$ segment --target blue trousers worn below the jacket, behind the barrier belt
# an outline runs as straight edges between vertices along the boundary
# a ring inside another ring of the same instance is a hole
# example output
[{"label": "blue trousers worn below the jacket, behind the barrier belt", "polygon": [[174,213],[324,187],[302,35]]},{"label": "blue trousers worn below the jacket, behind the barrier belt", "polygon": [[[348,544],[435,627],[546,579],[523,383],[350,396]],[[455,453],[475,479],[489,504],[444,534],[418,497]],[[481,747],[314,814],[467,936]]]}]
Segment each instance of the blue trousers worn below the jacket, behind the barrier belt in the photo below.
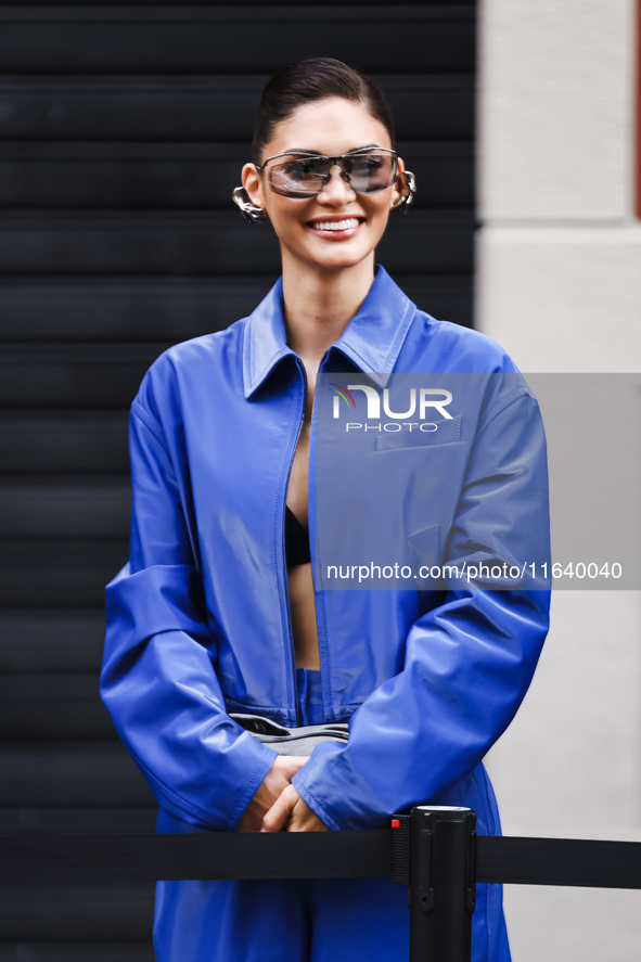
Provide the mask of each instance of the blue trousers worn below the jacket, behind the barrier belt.
[{"label": "blue trousers worn below the jacket, behind the barrier belt", "polygon": [[[304,724],[320,672],[298,669]],[[449,803],[454,804],[454,803]],[[206,830],[158,812],[158,832]],[[473,962],[510,962],[501,887],[477,886]],[[387,878],[158,882],[156,962],[408,962],[407,888]]]}]

